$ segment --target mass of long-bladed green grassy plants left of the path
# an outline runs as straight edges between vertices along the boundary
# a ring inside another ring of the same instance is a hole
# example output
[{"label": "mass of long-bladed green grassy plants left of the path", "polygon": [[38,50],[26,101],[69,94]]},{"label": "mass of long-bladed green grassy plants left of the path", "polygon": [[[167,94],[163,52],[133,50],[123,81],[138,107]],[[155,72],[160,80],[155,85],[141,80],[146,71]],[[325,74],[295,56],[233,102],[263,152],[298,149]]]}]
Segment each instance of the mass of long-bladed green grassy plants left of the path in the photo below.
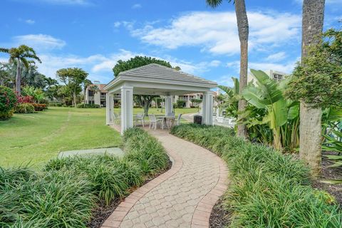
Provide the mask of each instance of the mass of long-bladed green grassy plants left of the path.
[{"label": "mass of long-bladed green grassy plants left of the path", "polygon": [[160,142],[140,129],[124,136],[125,155],[53,159],[41,172],[0,167],[0,227],[87,227],[100,204],[117,202],[167,169]]}]

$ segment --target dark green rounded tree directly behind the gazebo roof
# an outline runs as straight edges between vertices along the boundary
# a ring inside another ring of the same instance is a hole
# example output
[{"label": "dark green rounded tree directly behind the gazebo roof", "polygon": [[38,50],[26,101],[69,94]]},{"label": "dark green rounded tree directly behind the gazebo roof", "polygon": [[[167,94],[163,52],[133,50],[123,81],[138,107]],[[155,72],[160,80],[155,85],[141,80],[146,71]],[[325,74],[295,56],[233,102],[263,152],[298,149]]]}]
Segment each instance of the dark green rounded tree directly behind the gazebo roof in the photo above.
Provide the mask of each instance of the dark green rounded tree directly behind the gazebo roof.
[{"label": "dark green rounded tree directly behind the gazebo roof", "polygon": [[[135,56],[134,58],[130,58],[128,61],[119,60],[118,63],[115,64],[113,68],[114,77],[117,77],[120,72],[128,71],[133,68],[137,68],[140,66],[145,66],[150,63],[157,63],[162,66],[172,68],[171,64],[167,61],[163,61],[156,58],[151,58],[147,56]],[[148,110],[150,108],[150,104],[152,103],[153,98],[159,97],[157,95],[134,95],[134,100],[138,103],[143,109],[145,115],[148,115]]]}]

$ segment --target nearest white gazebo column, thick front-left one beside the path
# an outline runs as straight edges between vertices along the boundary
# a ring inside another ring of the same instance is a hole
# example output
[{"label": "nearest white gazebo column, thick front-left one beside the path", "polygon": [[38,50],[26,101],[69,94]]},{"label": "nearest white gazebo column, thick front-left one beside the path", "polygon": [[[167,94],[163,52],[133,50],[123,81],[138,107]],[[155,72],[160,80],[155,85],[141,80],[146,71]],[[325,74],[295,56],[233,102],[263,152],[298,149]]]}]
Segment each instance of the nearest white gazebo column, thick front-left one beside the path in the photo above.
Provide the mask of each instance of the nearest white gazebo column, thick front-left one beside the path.
[{"label": "nearest white gazebo column, thick front-left one beside the path", "polygon": [[133,128],[133,86],[121,87],[121,135]]}]

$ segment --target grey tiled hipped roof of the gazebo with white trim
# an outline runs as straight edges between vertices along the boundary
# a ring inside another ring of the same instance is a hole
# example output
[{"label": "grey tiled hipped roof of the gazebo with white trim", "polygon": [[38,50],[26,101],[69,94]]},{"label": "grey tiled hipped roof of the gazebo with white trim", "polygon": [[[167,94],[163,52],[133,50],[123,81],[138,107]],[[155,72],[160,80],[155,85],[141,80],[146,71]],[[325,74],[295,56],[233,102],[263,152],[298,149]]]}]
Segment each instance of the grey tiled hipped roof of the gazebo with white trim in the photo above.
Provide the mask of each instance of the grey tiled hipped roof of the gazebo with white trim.
[{"label": "grey tiled hipped roof of the gazebo with white trim", "polygon": [[205,92],[217,87],[217,83],[151,63],[119,73],[105,90],[120,93],[121,86],[133,86],[135,94],[167,95]]}]

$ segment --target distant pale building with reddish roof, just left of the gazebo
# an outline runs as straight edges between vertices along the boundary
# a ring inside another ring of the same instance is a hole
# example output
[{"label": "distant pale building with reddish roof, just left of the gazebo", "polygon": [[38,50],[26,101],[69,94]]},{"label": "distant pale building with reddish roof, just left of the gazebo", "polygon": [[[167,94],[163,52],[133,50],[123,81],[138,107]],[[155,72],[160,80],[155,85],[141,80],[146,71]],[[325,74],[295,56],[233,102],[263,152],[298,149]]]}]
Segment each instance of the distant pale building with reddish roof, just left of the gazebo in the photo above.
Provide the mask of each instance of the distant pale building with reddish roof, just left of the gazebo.
[{"label": "distant pale building with reddish roof, just left of the gazebo", "polygon": [[[86,88],[86,104],[95,104],[105,107],[105,95],[108,93],[104,89],[106,84],[100,84],[99,81],[94,81],[94,83]],[[120,95],[115,95],[114,103],[118,103],[120,100]]]}]

